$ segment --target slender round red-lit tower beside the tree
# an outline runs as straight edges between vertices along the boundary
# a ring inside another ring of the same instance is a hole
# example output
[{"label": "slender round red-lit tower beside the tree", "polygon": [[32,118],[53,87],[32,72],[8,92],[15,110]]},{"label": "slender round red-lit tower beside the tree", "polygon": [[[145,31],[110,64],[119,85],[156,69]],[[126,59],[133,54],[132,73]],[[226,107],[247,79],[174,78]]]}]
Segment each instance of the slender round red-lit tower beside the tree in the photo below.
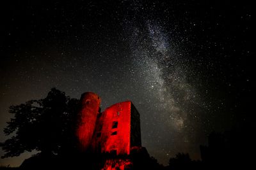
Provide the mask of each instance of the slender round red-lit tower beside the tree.
[{"label": "slender round red-lit tower beside the tree", "polygon": [[95,123],[100,107],[100,97],[93,92],[85,92],[81,95],[81,110],[78,115],[78,127],[76,131],[81,150],[85,151],[90,146]]}]

